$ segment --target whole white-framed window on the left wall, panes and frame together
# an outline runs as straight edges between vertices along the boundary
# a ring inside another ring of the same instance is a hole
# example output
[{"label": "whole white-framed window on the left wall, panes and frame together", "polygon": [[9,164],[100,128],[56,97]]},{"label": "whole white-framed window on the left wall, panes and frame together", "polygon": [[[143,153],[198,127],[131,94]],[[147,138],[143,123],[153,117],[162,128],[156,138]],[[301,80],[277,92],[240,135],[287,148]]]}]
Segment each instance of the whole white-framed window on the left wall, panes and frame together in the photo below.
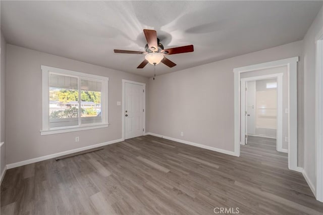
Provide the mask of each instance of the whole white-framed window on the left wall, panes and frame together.
[{"label": "whole white-framed window on the left wall, panes and frame together", "polygon": [[41,66],[41,135],[103,128],[109,78]]}]

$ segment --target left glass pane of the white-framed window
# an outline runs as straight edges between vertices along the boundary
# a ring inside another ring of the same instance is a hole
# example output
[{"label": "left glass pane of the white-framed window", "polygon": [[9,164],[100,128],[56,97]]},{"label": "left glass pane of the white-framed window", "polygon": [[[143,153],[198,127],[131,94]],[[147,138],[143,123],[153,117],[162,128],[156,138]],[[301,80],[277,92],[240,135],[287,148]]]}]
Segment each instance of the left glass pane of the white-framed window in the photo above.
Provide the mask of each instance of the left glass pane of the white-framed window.
[{"label": "left glass pane of the white-framed window", "polygon": [[50,74],[49,76],[49,128],[77,126],[78,79]]}]

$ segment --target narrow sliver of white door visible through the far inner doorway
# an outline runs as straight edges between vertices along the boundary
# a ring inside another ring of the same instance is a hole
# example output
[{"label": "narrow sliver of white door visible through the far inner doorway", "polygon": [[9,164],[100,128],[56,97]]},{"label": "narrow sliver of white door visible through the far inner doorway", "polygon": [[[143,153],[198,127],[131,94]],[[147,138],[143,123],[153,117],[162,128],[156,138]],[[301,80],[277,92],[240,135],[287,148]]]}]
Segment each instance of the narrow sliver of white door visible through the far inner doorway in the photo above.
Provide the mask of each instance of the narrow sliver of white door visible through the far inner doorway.
[{"label": "narrow sliver of white door visible through the far inner doorway", "polygon": [[256,133],[256,121],[255,121],[255,105],[256,105],[256,81],[246,82],[246,110],[247,110],[247,124],[246,134]]}]

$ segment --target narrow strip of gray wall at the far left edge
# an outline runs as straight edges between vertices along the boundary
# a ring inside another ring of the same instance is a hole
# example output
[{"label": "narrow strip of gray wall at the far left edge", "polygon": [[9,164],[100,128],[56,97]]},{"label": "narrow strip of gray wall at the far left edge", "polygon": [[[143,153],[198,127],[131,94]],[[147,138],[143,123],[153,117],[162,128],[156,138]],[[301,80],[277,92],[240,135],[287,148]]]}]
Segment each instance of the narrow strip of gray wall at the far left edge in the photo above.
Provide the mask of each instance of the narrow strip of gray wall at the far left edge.
[{"label": "narrow strip of gray wall at the far left edge", "polygon": [[0,174],[6,166],[6,40],[1,32],[1,72],[0,72],[0,142],[1,147]]}]

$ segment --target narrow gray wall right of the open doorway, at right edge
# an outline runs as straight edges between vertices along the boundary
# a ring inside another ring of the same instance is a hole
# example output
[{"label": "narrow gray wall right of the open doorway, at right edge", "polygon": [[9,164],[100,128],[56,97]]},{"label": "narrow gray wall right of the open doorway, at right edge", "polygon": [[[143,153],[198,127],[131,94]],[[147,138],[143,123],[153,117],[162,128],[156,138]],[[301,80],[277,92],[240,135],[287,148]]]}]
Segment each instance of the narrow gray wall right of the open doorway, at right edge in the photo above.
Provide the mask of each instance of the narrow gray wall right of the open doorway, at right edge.
[{"label": "narrow gray wall right of the open doorway, at right edge", "polygon": [[315,37],[323,28],[322,9],[304,37],[304,171],[316,188],[315,178]]}]

